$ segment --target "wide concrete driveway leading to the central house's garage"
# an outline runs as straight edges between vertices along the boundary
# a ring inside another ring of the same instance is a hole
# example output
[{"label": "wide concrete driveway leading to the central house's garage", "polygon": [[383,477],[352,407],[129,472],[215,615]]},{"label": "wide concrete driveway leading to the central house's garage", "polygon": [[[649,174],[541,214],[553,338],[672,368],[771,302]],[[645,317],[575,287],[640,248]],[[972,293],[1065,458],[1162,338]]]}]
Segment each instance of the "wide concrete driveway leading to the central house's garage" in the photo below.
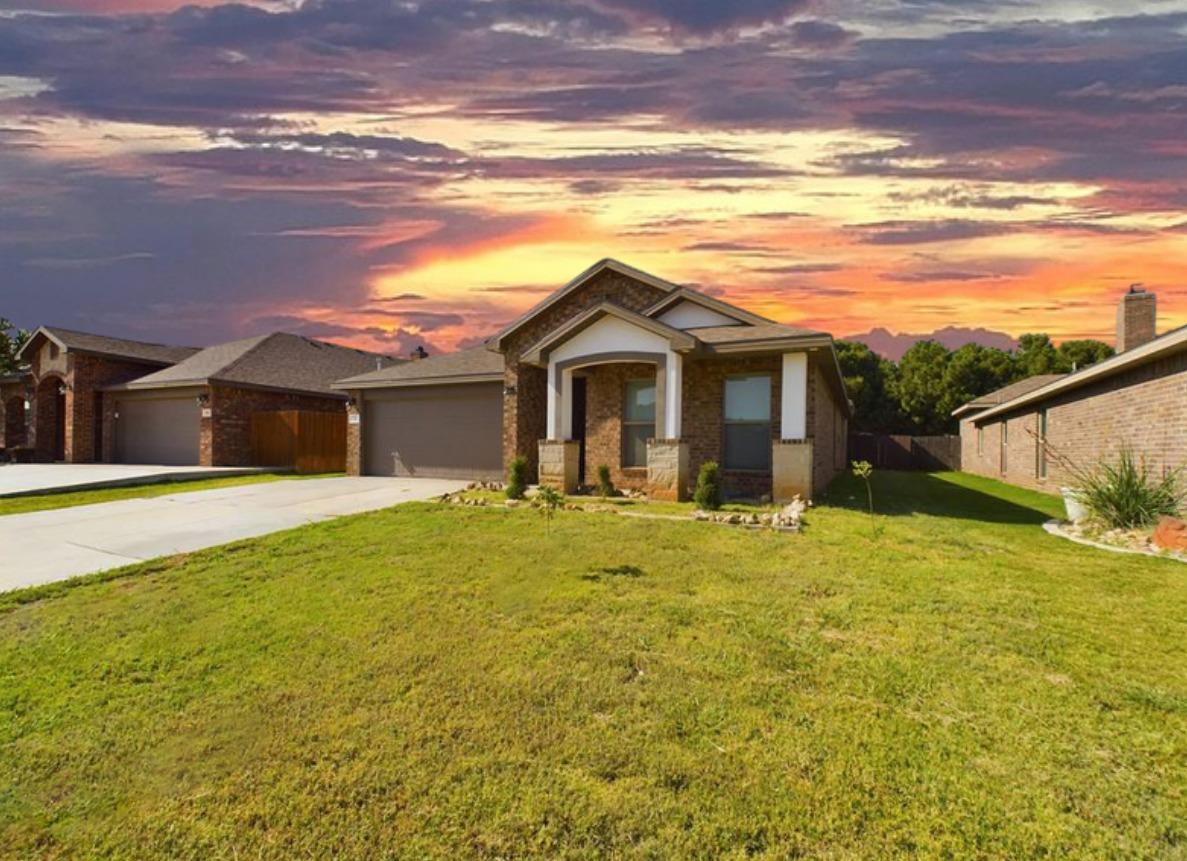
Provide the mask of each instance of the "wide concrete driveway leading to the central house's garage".
[{"label": "wide concrete driveway leading to the central house's garage", "polygon": [[464,488],[437,479],[306,479],[0,517],[0,591],[212,547]]}]

